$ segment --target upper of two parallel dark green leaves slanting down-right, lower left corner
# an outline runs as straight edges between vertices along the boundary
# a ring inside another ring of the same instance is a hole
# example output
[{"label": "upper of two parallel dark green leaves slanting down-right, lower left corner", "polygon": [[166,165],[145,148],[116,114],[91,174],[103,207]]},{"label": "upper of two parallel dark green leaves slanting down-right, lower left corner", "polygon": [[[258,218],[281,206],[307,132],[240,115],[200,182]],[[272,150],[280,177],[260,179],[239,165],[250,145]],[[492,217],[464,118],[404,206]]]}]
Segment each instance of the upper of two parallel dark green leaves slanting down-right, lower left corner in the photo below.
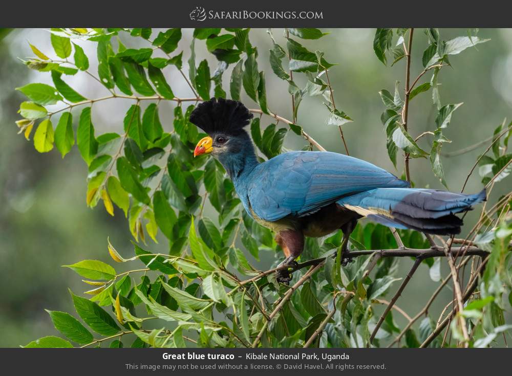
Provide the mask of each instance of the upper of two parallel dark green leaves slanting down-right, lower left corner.
[{"label": "upper of two parallel dark green leaves slanting down-right, lower left corner", "polygon": [[119,333],[119,326],[103,308],[95,302],[76,296],[71,290],[69,292],[73,298],[76,312],[91,329],[103,336],[113,336]]}]

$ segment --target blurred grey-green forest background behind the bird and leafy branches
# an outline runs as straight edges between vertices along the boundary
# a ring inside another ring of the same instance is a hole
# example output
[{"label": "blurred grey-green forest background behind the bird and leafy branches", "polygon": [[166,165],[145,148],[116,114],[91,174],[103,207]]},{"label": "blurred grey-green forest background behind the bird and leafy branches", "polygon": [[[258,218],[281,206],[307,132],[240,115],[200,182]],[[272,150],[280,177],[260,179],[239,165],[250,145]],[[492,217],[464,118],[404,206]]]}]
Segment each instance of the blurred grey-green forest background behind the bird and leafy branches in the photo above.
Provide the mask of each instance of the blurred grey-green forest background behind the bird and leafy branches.
[{"label": "blurred grey-green forest background behind the bird and leafy branches", "polygon": [[[380,122],[384,108],[378,92],[381,89],[393,92],[395,80],[403,82],[404,60],[390,68],[376,58],[372,47],[374,29],[325,31],[330,31],[330,34],[322,39],[302,42],[312,51],[325,51],[326,60],[337,63],[330,70],[329,78],[334,88],[337,108],[343,109],[354,119],[353,123],[343,128],[350,154],[401,175],[402,158],[398,157],[396,170],[387,155],[386,136]],[[184,51],[184,62],[189,56],[192,32],[191,29],[183,30],[183,38],[176,51]],[[440,33],[444,40],[467,35],[465,29],[441,29]],[[273,34],[284,46],[283,30],[275,29]],[[153,35],[156,35],[156,31]],[[444,152],[487,139],[505,117],[512,118],[512,29],[482,29],[478,36],[491,40],[460,55],[451,56],[452,68],[443,68],[439,74],[442,104],[464,102],[453,115],[449,128],[444,131],[445,136],[453,140],[452,144],[444,145]],[[252,45],[258,47],[259,69],[266,72],[269,108],[291,119],[291,99],[287,85],[273,75],[268,62],[268,50],[272,44],[266,30],[253,29],[249,37]],[[76,147],[62,160],[56,149],[40,154],[32,142],[27,142],[23,135],[17,135],[18,128],[14,122],[19,116],[16,112],[25,97],[14,88],[29,82],[51,84],[49,73],[29,70],[18,58],[33,55],[27,41],[45,54],[54,56],[49,32],[43,29],[15,29],[8,33],[0,32],[0,38],[0,322],[3,327],[0,347],[14,347],[42,336],[55,335],[56,331],[44,308],[74,311],[67,289],[70,287],[79,293],[86,290],[86,285],[73,271],[61,268],[61,265],[82,259],[111,262],[106,252],[108,236],[123,255],[130,255],[133,248],[130,246],[128,224],[121,211],[116,211],[116,216],[111,217],[101,205],[94,210],[86,206],[87,166]],[[121,33],[120,38],[127,47],[147,47],[137,45],[139,40],[126,33]],[[96,43],[78,44],[89,56],[90,71],[97,72]],[[412,51],[412,79],[423,69],[421,56],[426,46],[426,36],[419,29],[416,30]],[[207,56],[205,50],[204,41],[197,41],[196,61],[208,58],[213,72],[217,62],[210,60],[211,56]],[[232,66],[224,74],[224,90],[228,93],[231,69]],[[184,70],[187,70],[186,63]],[[166,74],[169,74],[168,82],[177,96],[190,96],[190,90],[179,72],[169,68]],[[424,79],[429,80],[430,76],[427,74]],[[101,84],[83,73],[67,76],[66,80],[88,98],[108,95]],[[300,86],[305,83],[301,79],[296,81]],[[400,89],[403,90],[403,85],[400,85]],[[249,107],[257,107],[247,97],[243,99]],[[124,100],[94,104],[93,123],[96,134],[119,131],[130,104]],[[167,107],[160,112],[166,130],[172,127],[173,105],[165,103]],[[412,136],[434,130],[436,114],[431,92],[419,95],[409,109]],[[326,149],[344,152],[337,127],[326,125],[327,115],[320,97],[305,98],[298,112],[298,124]],[[270,119],[265,117],[262,121],[263,124],[270,123]],[[285,141],[286,148],[297,149],[304,145],[302,138],[289,132]],[[430,150],[429,145],[426,140],[420,142],[425,150]],[[451,190],[460,190],[465,176],[487,145],[459,157],[442,159],[446,182]],[[442,188],[431,171],[430,161],[426,159],[412,160],[411,176],[416,187]],[[492,202],[505,192],[509,181],[510,178],[495,187],[490,197]],[[475,172],[465,191],[476,192],[480,189],[482,184]],[[466,232],[467,227],[475,223],[477,214],[474,212],[466,216]],[[166,242],[161,241],[159,245],[150,242],[146,248],[165,251]],[[274,260],[274,254],[270,252],[262,252],[260,255],[260,263],[249,256],[255,266],[260,268],[268,267]],[[402,259],[400,267],[403,273],[399,275],[406,273],[410,264],[409,259]],[[441,265],[444,276],[447,268],[443,262]],[[438,285],[430,279],[426,266],[422,264],[420,268],[398,301],[398,305],[411,316],[424,305]],[[432,308],[435,318],[451,298],[452,292],[449,289],[445,289],[437,298]],[[395,315],[395,320],[400,322],[403,318]],[[505,320],[510,322],[510,317]]]}]

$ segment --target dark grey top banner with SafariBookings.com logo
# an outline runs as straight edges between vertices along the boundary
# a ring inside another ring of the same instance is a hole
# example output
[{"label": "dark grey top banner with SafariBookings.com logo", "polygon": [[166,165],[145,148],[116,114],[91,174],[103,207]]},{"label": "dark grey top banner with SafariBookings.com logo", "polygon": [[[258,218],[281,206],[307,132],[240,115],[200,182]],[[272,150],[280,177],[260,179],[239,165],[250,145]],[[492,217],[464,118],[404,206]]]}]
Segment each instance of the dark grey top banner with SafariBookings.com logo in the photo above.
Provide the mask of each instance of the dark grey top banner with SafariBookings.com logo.
[{"label": "dark grey top banner with SafariBookings.com logo", "polygon": [[0,27],[511,27],[510,2],[4,2]]}]

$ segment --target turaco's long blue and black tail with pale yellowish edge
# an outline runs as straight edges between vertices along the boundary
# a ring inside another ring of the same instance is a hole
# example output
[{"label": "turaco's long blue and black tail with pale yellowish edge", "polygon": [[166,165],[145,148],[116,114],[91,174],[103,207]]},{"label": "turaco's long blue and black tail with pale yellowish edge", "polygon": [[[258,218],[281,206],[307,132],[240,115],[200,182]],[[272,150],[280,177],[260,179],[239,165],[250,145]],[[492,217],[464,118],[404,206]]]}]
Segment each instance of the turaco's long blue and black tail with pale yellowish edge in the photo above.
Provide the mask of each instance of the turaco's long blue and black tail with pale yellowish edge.
[{"label": "turaco's long blue and black tail with pale yellowish edge", "polygon": [[452,235],[458,234],[462,226],[462,219],[454,213],[471,210],[472,205],[485,200],[485,189],[461,194],[434,189],[376,188],[343,197],[337,204],[388,227]]}]

